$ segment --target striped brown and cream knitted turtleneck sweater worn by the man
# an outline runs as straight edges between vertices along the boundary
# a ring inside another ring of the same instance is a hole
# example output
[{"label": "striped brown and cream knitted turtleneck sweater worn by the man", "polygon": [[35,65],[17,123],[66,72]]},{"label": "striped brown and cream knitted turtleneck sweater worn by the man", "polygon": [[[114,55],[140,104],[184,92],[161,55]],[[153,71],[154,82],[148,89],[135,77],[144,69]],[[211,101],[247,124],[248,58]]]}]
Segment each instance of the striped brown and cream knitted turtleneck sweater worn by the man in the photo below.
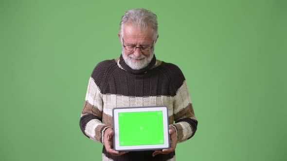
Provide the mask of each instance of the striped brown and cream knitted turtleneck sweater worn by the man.
[{"label": "striped brown and cream knitted turtleneck sweater worn by the man", "polygon": [[[159,106],[168,108],[169,125],[176,129],[178,143],[191,138],[197,119],[179,67],[156,60],[131,69],[122,55],[96,65],[90,76],[80,128],[90,139],[103,143],[104,131],[112,127],[112,109],[117,107]],[[135,120],[136,121],[136,120]],[[103,161],[175,161],[175,152],[152,157],[153,151],[131,151],[112,156],[105,147]]]}]

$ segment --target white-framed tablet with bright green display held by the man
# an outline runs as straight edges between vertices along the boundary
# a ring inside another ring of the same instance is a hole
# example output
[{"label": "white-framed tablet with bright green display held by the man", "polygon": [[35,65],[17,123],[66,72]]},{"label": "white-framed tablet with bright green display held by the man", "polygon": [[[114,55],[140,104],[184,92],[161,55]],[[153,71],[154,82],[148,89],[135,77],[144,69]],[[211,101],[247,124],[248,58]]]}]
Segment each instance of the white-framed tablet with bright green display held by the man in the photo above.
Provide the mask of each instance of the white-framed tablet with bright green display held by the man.
[{"label": "white-framed tablet with bright green display held by the man", "polygon": [[116,151],[156,150],[170,147],[165,106],[114,108]]}]

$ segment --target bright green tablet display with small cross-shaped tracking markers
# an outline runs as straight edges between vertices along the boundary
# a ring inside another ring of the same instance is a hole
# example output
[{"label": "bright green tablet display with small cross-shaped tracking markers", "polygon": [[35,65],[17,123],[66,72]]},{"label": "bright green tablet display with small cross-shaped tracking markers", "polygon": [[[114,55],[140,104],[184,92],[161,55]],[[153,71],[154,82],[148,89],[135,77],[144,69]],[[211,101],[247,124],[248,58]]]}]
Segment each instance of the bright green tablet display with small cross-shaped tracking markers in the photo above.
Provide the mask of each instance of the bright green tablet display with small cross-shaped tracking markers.
[{"label": "bright green tablet display with small cross-shaped tracking markers", "polygon": [[120,146],[163,144],[162,111],[119,113]]}]

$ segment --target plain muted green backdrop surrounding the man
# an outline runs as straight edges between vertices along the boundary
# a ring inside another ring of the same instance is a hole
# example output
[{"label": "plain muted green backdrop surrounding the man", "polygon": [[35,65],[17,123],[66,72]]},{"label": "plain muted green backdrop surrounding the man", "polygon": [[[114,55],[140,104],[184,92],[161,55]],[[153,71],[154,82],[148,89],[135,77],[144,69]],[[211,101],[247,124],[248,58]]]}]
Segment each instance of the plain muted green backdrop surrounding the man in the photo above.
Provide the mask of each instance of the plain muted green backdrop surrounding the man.
[{"label": "plain muted green backdrop surrounding the man", "polygon": [[177,160],[287,160],[286,0],[0,0],[0,160],[101,160],[79,128],[87,84],[139,7],[158,16],[156,56],[181,68],[199,121]]}]

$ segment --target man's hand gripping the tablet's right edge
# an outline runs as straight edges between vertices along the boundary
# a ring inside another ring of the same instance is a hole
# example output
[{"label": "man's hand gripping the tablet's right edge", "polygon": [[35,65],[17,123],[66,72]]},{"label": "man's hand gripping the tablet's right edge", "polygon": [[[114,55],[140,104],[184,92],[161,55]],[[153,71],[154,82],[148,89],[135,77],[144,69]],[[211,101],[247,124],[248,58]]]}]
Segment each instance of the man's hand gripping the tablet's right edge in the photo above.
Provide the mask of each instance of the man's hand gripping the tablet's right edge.
[{"label": "man's hand gripping the tablet's right edge", "polygon": [[169,154],[173,151],[176,150],[176,146],[178,143],[178,138],[177,138],[177,134],[176,131],[173,127],[169,127],[168,130],[169,136],[170,136],[170,148],[168,149],[162,149],[162,150],[155,150],[155,152],[152,153],[152,156],[156,156],[158,154]]}]

